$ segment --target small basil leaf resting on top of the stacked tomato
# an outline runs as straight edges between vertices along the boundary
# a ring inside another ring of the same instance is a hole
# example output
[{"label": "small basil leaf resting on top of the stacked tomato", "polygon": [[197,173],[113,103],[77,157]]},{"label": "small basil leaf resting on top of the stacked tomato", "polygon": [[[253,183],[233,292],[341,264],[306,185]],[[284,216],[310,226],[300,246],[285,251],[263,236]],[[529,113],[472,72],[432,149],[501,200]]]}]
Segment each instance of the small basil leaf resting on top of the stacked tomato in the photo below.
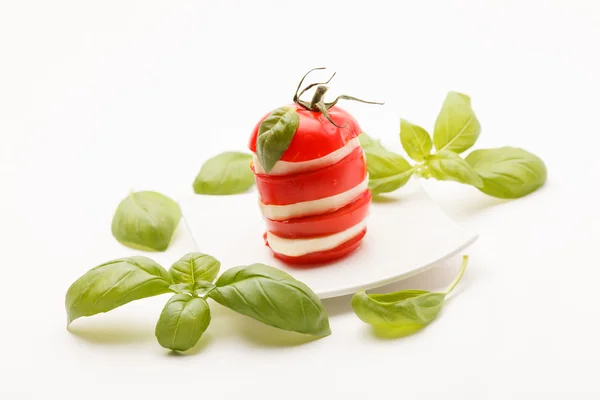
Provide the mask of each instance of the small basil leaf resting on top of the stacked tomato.
[{"label": "small basil leaf resting on top of the stacked tomato", "polygon": [[300,124],[295,109],[280,107],[269,114],[258,127],[256,156],[266,172],[273,169],[288,149]]}]

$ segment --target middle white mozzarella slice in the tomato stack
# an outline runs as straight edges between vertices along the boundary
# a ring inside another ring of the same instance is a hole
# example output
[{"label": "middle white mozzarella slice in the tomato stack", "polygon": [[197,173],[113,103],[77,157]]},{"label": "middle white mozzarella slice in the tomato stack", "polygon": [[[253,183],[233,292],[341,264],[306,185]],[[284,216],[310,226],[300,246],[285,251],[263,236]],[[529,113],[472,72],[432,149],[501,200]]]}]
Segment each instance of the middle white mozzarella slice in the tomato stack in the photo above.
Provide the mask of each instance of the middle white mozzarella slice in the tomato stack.
[{"label": "middle white mozzarella slice in the tomato stack", "polygon": [[294,217],[302,217],[305,215],[324,214],[329,211],[337,210],[349,204],[356,199],[361,193],[367,190],[369,185],[369,176],[352,189],[336,194],[335,196],[325,197],[318,200],[302,201],[300,203],[288,204],[284,206],[266,205],[259,200],[258,205],[262,214],[274,221],[283,221]]}]

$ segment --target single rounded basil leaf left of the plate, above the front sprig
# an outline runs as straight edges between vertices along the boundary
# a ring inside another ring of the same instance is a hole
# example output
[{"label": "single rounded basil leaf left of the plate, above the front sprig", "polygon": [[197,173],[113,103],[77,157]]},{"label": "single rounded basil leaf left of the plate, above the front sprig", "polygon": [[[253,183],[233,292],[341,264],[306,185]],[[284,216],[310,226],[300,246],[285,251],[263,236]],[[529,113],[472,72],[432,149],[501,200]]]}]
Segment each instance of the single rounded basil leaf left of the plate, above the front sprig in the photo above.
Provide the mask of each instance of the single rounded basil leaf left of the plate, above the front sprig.
[{"label": "single rounded basil leaf left of the plate, above the front sprig", "polygon": [[164,251],[181,219],[179,205],[157,192],[131,192],[112,220],[121,244],[144,251]]}]

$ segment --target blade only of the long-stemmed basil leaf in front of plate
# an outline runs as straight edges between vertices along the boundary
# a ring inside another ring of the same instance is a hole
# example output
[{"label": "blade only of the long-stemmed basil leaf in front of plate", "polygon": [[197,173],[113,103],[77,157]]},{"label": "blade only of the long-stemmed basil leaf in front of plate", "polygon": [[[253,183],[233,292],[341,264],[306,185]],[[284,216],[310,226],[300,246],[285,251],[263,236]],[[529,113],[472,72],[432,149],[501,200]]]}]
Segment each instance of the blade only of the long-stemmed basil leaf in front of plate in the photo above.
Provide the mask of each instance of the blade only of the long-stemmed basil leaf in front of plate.
[{"label": "blade only of the long-stemmed basil leaf in front of plate", "polygon": [[364,322],[385,327],[403,325],[427,325],[433,321],[444,305],[444,293],[397,292],[392,295],[404,297],[397,301],[381,301],[364,290],[352,297],[352,309]]}]

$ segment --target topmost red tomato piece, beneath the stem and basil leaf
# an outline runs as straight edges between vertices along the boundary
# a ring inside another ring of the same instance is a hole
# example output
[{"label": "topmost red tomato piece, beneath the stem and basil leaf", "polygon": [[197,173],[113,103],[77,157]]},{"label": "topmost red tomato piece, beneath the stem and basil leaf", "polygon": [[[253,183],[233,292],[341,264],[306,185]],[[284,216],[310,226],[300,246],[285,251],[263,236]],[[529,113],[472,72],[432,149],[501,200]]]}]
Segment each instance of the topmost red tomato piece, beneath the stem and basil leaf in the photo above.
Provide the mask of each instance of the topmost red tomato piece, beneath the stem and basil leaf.
[{"label": "topmost red tomato piece, beneath the stem and basil leaf", "polygon": [[[300,124],[288,149],[281,157],[282,161],[299,162],[321,158],[337,149],[362,133],[358,122],[347,111],[338,106],[329,109],[329,116],[339,126],[338,128],[325,118],[319,111],[309,111],[297,104],[289,105],[300,117]],[[248,147],[256,153],[256,137],[266,114],[254,127]]]}]

